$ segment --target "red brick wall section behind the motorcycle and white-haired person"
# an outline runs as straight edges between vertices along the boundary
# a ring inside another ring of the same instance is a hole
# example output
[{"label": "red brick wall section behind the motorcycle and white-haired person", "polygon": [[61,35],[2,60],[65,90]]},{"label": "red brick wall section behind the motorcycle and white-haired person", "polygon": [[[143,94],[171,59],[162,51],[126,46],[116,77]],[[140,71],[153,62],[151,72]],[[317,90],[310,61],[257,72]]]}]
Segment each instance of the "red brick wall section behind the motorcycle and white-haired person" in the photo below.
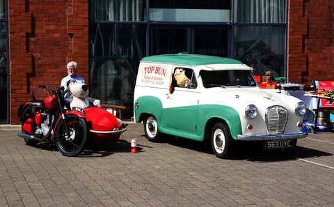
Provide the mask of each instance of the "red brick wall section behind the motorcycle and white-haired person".
[{"label": "red brick wall section behind the motorcycle and white-haired person", "polygon": [[19,105],[47,96],[39,84],[60,86],[68,61],[77,61],[88,83],[88,0],[10,0],[8,6],[10,123],[18,124]]}]

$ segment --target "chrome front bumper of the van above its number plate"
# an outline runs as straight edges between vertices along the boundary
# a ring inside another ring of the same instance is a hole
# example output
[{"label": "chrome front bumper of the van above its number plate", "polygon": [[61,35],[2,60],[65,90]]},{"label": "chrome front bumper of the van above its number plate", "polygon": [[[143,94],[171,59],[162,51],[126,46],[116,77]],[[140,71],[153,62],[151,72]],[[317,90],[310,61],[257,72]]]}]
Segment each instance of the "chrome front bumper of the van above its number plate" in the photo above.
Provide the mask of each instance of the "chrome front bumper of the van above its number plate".
[{"label": "chrome front bumper of the van above its number plate", "polygon": [[274,139],[296,139],[305,137],[308,137],[308,132],[300,132],[294,134],[279,134],[279,135],[237,135],[237,140],[259,141],[259,140],[274,140]]}]

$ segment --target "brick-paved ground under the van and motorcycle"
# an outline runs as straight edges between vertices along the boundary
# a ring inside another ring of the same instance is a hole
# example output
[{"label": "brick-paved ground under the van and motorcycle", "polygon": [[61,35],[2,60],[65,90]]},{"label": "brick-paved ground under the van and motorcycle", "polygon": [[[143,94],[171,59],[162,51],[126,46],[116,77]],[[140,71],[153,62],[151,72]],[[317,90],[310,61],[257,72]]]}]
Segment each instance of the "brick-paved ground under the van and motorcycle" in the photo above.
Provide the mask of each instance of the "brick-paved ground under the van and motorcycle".
[{"label": "brick-paved ground under the van and motorcycle", "polygon": [[299,139],[290,154],[244,146],[222,160],[194,141],[149,142],[136,123],[76,158],[26,146],[19,131],[0,125],[0,206],[334,206],[331,132]]}]

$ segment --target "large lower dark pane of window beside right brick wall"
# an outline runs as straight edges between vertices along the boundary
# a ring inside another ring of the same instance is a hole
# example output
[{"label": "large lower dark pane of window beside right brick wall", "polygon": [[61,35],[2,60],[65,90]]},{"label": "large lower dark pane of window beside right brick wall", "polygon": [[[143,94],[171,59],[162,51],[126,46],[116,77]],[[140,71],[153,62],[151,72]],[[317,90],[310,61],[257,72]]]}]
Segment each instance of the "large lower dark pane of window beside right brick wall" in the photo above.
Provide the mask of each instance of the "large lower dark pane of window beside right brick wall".
[{"label": "large lower dark pane of window beside right brick wall", "polygon": [[285,26],[234,26],[234,59],[254,69],[285,77]]}]

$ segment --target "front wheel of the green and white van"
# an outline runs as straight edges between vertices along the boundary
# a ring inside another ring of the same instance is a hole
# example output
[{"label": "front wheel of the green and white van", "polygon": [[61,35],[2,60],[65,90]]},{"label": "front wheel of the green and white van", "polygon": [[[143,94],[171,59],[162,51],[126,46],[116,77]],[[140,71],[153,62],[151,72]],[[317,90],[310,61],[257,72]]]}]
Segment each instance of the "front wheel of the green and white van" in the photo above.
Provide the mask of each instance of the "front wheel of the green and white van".
[{"label": "front wheel of the green and white van", "polygon": [[224,123],[216,123],[212,128],[211,146],[217,158],[227,158],[232,151],[233,138],[228,126]]}]

